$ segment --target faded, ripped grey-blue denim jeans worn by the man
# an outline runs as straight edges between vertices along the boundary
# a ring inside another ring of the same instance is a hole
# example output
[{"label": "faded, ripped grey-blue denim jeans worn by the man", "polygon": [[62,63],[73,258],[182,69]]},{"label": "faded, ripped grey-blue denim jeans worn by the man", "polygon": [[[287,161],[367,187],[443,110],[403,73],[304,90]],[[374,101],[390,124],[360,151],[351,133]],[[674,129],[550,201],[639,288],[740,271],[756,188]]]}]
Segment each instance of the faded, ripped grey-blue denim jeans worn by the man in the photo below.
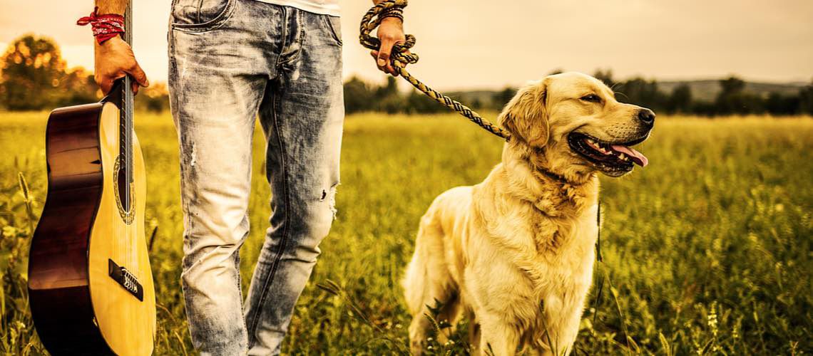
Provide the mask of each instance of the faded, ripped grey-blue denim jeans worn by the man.
[{"label": "faded, ripped grey-blue denim jeans worn by the man", "polygon": [[[180,140],[181,282],[202,354],[279,354],[334,217],[344,121],[339,19],[253,0],[174,0],[169,89]],[[243,307],[251,139],[270,228]]]}]

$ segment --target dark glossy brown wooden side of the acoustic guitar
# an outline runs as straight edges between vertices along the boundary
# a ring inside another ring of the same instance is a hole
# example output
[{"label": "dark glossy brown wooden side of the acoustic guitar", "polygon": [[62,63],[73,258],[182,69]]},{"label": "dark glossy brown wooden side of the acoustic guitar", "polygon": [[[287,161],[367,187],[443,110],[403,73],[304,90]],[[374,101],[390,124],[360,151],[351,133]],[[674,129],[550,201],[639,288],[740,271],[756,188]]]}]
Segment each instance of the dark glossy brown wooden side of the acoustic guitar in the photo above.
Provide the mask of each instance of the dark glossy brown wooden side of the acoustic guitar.
[{"label": "dark glossy brown wooden side of the acoustic guitar", "polygon": [[48,196],[31,243],[28,294],[37,333],[54,354],[112,354],[93,319],[87,255],[102,197],[101,113],[100,103],[79,105],[48,120]]}]

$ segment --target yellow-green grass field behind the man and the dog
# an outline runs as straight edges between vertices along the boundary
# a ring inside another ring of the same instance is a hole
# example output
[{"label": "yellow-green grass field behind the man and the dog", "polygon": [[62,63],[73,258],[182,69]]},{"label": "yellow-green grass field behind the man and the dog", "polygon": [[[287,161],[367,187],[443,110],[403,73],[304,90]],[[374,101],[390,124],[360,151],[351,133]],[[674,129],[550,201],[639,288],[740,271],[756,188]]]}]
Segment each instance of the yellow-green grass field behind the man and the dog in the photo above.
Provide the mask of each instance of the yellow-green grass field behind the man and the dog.
[{"label": "yellow-green grass field behind the man and the dog", "polygon": [[[0,113],[3,354],[43,352],[28,313],[25,268],[46,196],[46,117]],[[176,134],[168,115],[137,115],[137,131],[149,172],[147,225],[158,228],[151,251],[155,354],[194,354],[179,285]],[[337,221],[296,308],[286,353],[406,352],[409,317],[398,281],[418,219],[442,191],[485,178],[502,148],[451,114],[352,116],[345,132]],[[269,214],[259,135],[254,146],[244,283]],[[577,353],[813,353],[811,148],[811,118],[659,119],[641,148],[650,166],[602,178],[603,262]],[[462,335],[452,340],[430,353],[465,353]]]}]

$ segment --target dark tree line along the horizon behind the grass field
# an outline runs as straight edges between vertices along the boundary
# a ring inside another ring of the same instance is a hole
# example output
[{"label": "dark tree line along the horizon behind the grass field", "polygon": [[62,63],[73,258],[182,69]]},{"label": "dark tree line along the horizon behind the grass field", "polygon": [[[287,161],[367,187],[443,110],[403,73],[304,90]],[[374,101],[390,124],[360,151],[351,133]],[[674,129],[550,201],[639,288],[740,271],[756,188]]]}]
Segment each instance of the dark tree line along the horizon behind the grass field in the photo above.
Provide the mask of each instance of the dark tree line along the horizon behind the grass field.
[{"label": "dark tree line along the horizon behind the grass field", "polygon": [[[554,71],[557,73],[559,71]],[[737,77],[719,81],[713,100],[695,97],[688,84],[666,92],[656,80],[633,78],[615,81],[611,71],[593,73],[615,91],[619,101],[633,103],[665,114],[702,116],[731,114],[813,115],[813,83],[795,94],[768,92],[756,94],[746,90],[746,82]],[[472,109],[500,110],[511,100],[515,88],[489,92],[449,92],[450,97]],[[345,108],[348,114],[375,111],[389,114],[429,114],[446,112],[424,93],[398,90],[397,79],[388,77],[385,84],[370,84],[353,77],[344,84]],[[0,109],[41,110],[98,101],[102,93],[93,74],[81,67],[68,67],[61,58],[59,46],[47,37],[25,35],[8,46],[0,58]],[[143,88],[136,97],[136,109],[160,112],[169,108],[165,84]]]}]

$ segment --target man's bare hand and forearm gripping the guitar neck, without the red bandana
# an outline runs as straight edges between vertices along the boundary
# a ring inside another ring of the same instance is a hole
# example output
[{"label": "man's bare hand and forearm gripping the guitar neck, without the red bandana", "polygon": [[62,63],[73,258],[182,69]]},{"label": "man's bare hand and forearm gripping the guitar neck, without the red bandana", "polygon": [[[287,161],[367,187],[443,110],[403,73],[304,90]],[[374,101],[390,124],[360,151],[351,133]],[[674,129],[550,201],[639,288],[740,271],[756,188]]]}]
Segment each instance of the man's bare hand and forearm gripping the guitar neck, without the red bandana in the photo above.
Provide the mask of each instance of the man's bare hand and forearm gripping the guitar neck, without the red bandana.
[{"label": "man's bare hand and forearm gripping the guitar neck, without the red bandana", "polygon": [[[98,6],[98,14],[118,14],[124,15],[127,9],[127,0],[95,0]],[[130,31],[125,28],[125,31]],[[93,41],[93,54],[95,55],[95,67],[93,68],[93,79],[102,88],[102,92],[107,94],[113,86],[113,81],[131,75],[135,79],[133,92],[138,92],[138,86],[147,87],[150,81],[147,75],[141,70],[141,66],[136,62],[133,49],[120,36],[115,36],[99,45]]]}]

